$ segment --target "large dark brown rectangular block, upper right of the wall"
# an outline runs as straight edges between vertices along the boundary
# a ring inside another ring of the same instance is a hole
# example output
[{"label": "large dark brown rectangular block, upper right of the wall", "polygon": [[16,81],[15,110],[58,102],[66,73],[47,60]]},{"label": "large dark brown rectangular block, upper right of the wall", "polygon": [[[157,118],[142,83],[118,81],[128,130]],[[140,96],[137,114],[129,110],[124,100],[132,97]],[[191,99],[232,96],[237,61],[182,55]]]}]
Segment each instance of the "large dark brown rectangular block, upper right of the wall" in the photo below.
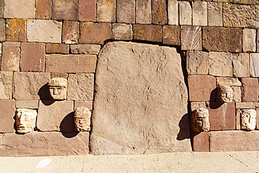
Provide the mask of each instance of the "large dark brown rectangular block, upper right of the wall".
[{"label": "large dark brown rectangular block, upper right of the wall", "polygon": [[202,46],[208,51],[241,52],[241,28],[203,27]]}]

